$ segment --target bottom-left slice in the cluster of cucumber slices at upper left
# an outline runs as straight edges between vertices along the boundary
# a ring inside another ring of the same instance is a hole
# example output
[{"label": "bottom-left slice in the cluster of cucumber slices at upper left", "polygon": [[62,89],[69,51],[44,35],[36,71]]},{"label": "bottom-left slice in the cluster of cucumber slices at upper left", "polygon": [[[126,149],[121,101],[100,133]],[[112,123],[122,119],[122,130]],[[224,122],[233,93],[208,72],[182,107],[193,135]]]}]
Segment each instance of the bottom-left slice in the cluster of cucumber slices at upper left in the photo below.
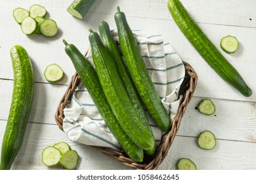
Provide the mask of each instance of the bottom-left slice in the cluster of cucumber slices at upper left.
[{"label": "bottom-left slice in the cluster of cucumber slices at upper left", "polygon": [[32,17],[27,16],[22,20],[20,27],[24,34],[32,35],[37,30],[38,23]]}]

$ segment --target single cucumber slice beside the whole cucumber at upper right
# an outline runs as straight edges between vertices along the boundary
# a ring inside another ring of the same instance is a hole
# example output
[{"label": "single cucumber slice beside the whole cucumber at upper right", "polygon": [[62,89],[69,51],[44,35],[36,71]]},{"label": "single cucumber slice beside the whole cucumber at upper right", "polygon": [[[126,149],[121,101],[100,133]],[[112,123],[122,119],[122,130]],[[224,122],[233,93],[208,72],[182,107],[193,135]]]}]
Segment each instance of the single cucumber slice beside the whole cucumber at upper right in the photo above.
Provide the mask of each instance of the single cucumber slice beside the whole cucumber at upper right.
[{"label": "single cucumber slice beside the whole cucumber at upper right", "polygon": [[239,42],[236,37],[228,35],[221,39],[221,49],[227,54],[232,54],[238,50]]}]

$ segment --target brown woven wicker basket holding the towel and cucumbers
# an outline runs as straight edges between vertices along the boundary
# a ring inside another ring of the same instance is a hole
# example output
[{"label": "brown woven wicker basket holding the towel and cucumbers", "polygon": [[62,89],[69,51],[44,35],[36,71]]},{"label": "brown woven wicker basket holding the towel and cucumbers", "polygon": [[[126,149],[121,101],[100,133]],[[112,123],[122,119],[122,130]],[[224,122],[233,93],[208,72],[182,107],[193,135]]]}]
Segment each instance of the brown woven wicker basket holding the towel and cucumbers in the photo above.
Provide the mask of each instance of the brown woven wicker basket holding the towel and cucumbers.
[{"label": "brown woven wicker basket holding the towel and cucumbers", "polygon": [[[96,150],[99,150],[106,156],[110,156],[111,158],[117,159],[127,167],[131,167],[133,169],[142,169],[142,170],[152,170],[152,169],[158,169],[161,162],[167,156],[168,150],[171,147],[171,144],[173,143],[173,140],[175,138],[175,135],[179,129],[179,125],[181,124],[182,116],[184,115],[184,112],[186,111],[186,107],[188,106],[188,103],[190,102],[190,99],[192,99],[192,95],[194,91],[196,90],[196,84],[198,80],[198,76],[196,75],[196,72],[194,69],[186,62],[184,62],[185,66],[185,78],[182,82],[181,88],[179,90],[179,95],[183,95],[181,105],[179,106],[179,110],[177,112],[177,116],[173,120],[173,124],[171,126],[171,129],[163,135],[161,139],[160,145],[157,147],[156,153],[154,156],[146,156],[144,157],[144,161],[142,163],[137,163],[130,159],[125,153],[118,152],[116,150],[112,150],[111,148],[106,147],[99,147],[99,146],[93,146],[96,148]],[[64,96],[62,97],[58,108],[56,110],[56,114],[54,116],[56,124],[58,124],[58,127],[63,131],[63,109],[66,107],[68,100],[72,96],[72,93],[74,92],[75,88],[77,88],[77,85],[80,82],[80,78],[75,73],[75,75],[72,77],[72,80],[64,93]]]}]

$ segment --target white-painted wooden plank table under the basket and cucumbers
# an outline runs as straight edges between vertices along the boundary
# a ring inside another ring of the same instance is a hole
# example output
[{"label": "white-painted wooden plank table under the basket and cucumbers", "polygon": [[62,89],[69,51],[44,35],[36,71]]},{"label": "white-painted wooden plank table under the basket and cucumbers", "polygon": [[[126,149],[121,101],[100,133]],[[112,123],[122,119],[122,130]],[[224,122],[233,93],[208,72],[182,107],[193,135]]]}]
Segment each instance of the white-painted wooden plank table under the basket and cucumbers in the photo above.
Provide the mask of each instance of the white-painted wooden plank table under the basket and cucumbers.
[{"label": "white-painted wooden plank table under the basket and cucumbers", "polygon": [[[181,127],[169,154],[159,169],[176,169],[179,158],[190,158],[198,169],[256,169],[256,1],[238,0],[181,0],[209,39],[220,48],[226,35],[240,41],[235,54],[223,52],[238,69],[253,90],[244,97],[226,84],[200,57],[173,21],[167,9],[167,0],[96,0],[83,20],[72,17],[66,8],[73,0],[0,1],[0,146],[7,124],[12,97],[12,65],[10,49],[15,44],[26,48],[35,73],[35,98],[24,142],[12,169],[56,169],[41,163],[41,152],[46,146],[66,141],[77,150],[80,159],[77,169],[129,169],[119,161],[108,158],[94,148],[72,142],[58,129],[54,113],[75,69],[64,52],[62,39],[85,52],[89,46],[89,28],[97,30],[98,22],[105,20],[115,27],[114,13],[119,5],[133,29],[146,29],[163,35],[182,60],[190,63],[198,73],[198,87],[182,118]],[[43,35],[24,35],[12,17],[16,7],[29,8],[33,3],[47,8],[50,18],[56,20],[60,33],[53,38]],[[55,84],[47,82],[45,67],[57,63],[64,70],[64,78]],[[210,98],[216,106],[213,116],[200,114],[198,103]],[[200,132],[215,133],[217,147],[202,150],[196,144]]]}]

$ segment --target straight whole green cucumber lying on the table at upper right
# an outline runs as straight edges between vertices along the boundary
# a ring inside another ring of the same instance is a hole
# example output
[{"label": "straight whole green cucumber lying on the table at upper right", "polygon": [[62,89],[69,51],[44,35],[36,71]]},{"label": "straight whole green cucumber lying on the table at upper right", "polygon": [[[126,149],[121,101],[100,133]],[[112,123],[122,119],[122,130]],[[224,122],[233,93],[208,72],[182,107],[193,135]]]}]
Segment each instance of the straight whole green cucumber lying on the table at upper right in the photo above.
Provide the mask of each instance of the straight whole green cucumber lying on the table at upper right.
[{"label": "straight whole green cucumber lying on the table at upper right", "polygon": [[202,29],[190,17],[179,0],[169,0],[167,3],[169,12],[176,24],[186,36],[188,41],[196,48],[203,59],[223,78],[245,97],[252,94],[251,89],[245,83],[238,71],[219,52],[214,44],[209,41]]}]

